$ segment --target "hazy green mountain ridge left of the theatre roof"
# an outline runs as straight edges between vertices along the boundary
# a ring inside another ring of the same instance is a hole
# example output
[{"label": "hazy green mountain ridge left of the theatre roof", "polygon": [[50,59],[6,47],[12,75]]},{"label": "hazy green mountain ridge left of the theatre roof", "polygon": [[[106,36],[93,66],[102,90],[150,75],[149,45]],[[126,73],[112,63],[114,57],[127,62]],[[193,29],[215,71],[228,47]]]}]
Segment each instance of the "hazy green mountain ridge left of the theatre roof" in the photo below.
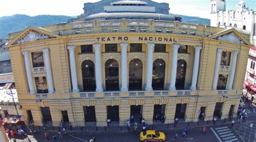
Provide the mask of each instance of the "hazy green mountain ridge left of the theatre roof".
[{"label": "hazy green mountain ridge left of the theatre roof", "polygon": [[30,25],[40,27],[66,23],[67,20],[71,18],[73,17],[55,15],[38,15],[33,17],[27,15],[12,15],[0,17],[0,39],[6,39],[8,38],[9,33],[22,31]]}]

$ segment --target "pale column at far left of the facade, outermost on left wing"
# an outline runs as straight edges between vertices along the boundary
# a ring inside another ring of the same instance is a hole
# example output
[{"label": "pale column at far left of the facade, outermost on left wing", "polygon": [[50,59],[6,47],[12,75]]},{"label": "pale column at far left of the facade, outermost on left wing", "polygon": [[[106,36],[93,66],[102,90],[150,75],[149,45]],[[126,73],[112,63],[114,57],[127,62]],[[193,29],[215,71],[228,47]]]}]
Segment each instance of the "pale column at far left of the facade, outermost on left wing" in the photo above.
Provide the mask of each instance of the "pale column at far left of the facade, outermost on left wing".
[{"label": "pale column at far left of the facade, outermost on left wing", "polygon": [[24,59],[25,59],[26,77],[28,78],[28,83],[29,83],[29,93],[30,94],[35,94],[36,91],[35,91],[33,78],[32,78],[32,73],[31,73],[29,52],[28,51],[23,51],[22,54],[24,55]]}]

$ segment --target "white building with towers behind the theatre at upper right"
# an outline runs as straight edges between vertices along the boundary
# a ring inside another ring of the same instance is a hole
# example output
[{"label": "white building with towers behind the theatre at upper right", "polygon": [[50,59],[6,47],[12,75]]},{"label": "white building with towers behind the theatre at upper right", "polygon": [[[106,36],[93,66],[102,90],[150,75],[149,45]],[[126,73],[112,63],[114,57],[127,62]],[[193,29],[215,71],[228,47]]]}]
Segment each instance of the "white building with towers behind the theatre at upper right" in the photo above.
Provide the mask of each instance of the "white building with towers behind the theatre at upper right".
[{"label": "white building with towers behind the theatre at upper right", "polygon": [[249,9],[243,0],[235,10],[226,10],[225,0],[211,0],[211,26],[234,27],[238,31],[250,32],[250,42],[256,44],[256,11]]}]

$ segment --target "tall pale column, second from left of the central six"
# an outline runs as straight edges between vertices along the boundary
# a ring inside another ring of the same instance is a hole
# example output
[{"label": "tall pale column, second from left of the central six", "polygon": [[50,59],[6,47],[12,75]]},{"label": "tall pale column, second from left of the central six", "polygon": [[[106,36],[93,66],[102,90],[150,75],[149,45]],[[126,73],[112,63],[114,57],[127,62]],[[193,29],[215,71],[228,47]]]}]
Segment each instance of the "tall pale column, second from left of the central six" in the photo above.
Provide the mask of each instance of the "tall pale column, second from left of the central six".
[{"label": "tall pale column, second from left of the central six", "polygon": [[102,64],[100,63],[100,46],[101,44],[93,44],[95,49],[95,77],[96,77],[96,91],[103,91],[102,88]]}]

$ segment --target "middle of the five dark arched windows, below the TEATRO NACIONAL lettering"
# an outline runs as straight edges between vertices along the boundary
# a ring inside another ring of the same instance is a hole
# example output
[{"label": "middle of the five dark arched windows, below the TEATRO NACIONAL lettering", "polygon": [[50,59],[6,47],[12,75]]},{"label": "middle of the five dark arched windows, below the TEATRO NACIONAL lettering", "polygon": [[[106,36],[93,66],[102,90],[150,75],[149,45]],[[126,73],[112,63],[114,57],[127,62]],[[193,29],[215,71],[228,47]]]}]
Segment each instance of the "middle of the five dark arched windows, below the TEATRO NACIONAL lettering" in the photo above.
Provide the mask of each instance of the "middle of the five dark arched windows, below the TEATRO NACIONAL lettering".
[{"label": "middle of the five dark arched windows, below the TEATRO NACIONAL lettering", "polygon": [[142,90],[142,61],[139,59],[129,63],[129,90]]}]

